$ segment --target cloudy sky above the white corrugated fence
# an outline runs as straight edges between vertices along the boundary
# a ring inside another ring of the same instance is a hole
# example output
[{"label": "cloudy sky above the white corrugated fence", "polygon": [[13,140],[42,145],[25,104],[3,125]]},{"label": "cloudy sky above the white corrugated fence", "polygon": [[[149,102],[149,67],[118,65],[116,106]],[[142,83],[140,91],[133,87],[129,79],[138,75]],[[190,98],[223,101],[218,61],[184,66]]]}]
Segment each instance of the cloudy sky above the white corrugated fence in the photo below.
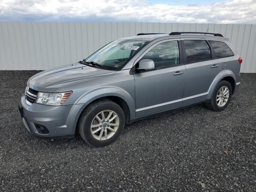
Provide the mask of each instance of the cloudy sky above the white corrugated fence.
[{"label": "cloudy sky above the white corrugated fence", "polygon": [[256,0],[0,0],[0,21],[256,24]]}]

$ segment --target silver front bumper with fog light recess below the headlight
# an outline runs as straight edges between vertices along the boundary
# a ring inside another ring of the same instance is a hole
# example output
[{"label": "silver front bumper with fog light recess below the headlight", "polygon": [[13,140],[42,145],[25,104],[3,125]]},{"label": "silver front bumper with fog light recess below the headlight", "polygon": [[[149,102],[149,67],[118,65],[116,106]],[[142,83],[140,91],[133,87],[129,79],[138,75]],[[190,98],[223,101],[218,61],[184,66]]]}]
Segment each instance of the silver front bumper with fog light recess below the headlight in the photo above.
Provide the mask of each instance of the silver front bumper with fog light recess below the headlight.
[{"label": "silver front bumper with fog light recess below the headlight", "polygon": [[[47,106],[33,103],[28,105],[24,94],[19,102],[24,125],[37,137],[73,137],[82,107],[82,104]],[[46,128],[47,131],[42,131],[41,128]]]}]

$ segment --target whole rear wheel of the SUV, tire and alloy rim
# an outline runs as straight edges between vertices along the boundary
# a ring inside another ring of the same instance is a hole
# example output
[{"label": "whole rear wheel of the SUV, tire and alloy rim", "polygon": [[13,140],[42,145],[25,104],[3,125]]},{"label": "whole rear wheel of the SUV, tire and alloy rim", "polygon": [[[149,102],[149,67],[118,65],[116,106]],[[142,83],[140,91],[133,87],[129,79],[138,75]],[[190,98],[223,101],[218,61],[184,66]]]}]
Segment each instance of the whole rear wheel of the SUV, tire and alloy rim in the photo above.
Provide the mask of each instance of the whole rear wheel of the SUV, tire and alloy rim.
[{"label": "whole rear wheel of the SUV, tire and alloy rim", "polygon": [[222,111],[224,110],[231,99],[232,86],[228,81],[221,81],[214,89],[212,98],[207,104],[210,110]]}]

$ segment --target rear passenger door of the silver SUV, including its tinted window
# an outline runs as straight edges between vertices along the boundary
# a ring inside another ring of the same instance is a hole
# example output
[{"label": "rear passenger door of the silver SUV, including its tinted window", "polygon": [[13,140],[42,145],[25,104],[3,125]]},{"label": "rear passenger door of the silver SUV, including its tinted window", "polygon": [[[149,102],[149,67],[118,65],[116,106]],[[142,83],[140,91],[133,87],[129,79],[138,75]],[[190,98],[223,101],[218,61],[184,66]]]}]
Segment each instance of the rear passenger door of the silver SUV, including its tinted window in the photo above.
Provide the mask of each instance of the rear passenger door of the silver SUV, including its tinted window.
[{"label": "rear passenger door of the silver SUV, including its tinted window", "polygon": [[182,105],[205,100],[212,81],[220,72],[220,64],[204,38],[182,38],[186,78]]}]

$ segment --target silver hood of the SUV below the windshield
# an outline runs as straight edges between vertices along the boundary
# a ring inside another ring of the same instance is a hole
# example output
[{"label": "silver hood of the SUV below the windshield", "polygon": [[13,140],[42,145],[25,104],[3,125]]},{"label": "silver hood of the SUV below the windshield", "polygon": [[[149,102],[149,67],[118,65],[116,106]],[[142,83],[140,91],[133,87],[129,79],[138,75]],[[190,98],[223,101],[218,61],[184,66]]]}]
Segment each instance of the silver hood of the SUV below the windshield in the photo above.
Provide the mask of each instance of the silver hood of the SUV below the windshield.
[{"label": "silver hood of the SUV below the windshield", "polygon": [[63,86],[102,78],[114,73],[116,71],[72,63],[40,72],[32,76],[28,80],[27,85],[37,91],[54,92]]}]

